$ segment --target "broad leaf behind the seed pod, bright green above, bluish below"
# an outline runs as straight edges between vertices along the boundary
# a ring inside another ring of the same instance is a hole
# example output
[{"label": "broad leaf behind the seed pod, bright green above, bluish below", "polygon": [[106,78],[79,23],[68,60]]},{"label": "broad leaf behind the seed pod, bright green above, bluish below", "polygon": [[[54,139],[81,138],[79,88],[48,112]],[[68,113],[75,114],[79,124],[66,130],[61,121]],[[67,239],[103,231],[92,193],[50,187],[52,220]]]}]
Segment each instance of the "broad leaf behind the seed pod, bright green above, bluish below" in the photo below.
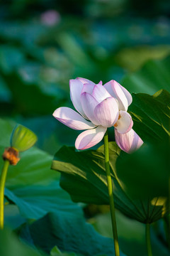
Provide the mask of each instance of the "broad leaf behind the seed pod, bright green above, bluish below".
[{"label": "broad leaf behind the seed pod, bright green above, bluish below", "polygon": [[[13,126],[15,124],[0,119],[0,154],[10,144]],[[9,166],[5,195],[16,203],[25,218],[38,219],[57,211],[82,215],[81,208],[60,188],[60,175],[50,169],[51,162],[52,156],[33,147],[21,154],[21,161],[16,166]],[[2,164],[0,159],[0,166]]]}]

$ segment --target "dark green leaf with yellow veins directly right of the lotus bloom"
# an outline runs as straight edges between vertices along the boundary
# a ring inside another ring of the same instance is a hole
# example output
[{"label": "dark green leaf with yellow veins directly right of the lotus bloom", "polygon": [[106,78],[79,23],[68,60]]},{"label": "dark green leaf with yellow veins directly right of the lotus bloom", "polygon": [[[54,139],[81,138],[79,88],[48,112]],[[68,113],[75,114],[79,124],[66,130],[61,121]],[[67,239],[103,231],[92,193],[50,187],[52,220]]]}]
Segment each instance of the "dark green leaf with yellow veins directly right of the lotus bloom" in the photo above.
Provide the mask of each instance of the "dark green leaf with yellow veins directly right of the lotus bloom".
[{"label": "dark green leaf with yellow veins directly right of the lotus bloom", "polygon": [[154,95],[132,94],[129,112],[134,129],[144,142],[162,142],[170,135],[170,93],[159,90]]}]

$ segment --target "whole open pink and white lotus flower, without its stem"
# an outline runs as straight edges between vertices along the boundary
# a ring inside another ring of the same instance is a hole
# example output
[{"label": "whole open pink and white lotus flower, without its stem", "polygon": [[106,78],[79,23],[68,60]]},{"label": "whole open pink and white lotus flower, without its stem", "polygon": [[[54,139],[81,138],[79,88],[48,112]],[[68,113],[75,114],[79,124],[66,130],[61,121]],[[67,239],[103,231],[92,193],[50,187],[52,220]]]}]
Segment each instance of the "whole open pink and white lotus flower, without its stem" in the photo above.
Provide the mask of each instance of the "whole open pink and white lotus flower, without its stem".
[{"label": "whole open pink and white lotus flower, without its stem", "polygon": [[77,112],[59,107],[53,116],[72,129],[86,130],[76,139],[77,149],[89,149],[101,142],[108,127],[115,127],[115,142],[123,151],[131,153],[142,145],[127,112],[132,96],[118,82],[111,80],[105,85],[102,82],[96,85],[85,78],[77,78],[69,81],[69,87]]}]

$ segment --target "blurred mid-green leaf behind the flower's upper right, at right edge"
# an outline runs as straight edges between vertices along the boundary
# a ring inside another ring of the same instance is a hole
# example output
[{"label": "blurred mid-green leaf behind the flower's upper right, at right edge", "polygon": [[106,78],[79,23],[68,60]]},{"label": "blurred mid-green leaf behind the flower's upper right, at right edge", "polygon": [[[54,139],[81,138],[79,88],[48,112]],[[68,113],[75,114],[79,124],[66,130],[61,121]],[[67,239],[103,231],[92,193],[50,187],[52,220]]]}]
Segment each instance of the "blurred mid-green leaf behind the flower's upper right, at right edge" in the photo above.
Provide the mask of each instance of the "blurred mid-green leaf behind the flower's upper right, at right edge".
[{"label": "blurred mid-green leaf behind the flower's upper right, at right edge", "polygon": [[130,92],[154,94],[158,90],[170,90],[170,57],[164,60],[149,60],[141,70],[126,75],[122,85]]}]

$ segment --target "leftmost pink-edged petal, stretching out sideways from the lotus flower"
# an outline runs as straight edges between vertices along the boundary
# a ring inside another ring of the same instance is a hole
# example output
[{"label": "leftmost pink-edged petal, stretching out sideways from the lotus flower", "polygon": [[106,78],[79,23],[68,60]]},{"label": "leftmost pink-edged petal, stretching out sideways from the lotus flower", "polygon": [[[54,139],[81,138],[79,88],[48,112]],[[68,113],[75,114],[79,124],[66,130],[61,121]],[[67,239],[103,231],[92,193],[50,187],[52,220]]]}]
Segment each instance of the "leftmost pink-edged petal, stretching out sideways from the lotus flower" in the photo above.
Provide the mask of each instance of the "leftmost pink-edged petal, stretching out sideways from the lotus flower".
[{"label": "leftmost pink-edged petal, stretching out sideways from the lotus flower", "polygon": [[96,125],[87,121],[81,115],[69,107],[59,107],[52,114],[57,120],[62,122],[62,124],[67,125],[72,129],[82,130],[82,129],[92,129]]}]

